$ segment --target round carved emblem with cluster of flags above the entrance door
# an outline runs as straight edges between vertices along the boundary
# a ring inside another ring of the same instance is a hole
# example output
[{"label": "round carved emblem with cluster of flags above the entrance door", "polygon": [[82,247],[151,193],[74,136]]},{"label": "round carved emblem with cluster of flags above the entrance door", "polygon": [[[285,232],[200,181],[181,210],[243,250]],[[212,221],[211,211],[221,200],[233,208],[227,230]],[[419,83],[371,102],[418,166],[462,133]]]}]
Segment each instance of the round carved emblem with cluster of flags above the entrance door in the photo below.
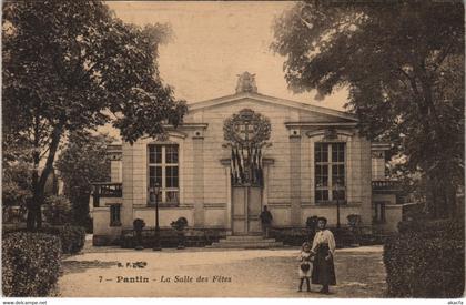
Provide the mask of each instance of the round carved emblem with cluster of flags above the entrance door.
[{"label": "round carved emblem with cluster of flags above the entrance door", "polygon": [[263,186],[262,148],[270,145],[271,123],[250,109],[233,114],[223,125],[230,146],[232,185]]}]

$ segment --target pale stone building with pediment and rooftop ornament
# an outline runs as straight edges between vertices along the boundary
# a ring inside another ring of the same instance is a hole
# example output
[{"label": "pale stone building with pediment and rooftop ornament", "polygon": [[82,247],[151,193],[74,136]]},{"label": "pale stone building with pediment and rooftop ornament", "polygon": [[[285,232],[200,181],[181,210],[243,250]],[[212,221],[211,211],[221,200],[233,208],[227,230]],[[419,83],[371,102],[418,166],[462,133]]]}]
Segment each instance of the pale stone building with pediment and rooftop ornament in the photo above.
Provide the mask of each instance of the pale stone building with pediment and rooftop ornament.
[{"label": "pale stone building with pediment and rooftop ornament", "polygon": [[185,217],[193,231],[257,234],[264,205],[274,227],[303,227],[313,215],[335,226],[340,205],[342,225],[357,214],[365,227],[393,231],[402,209],[385,181],[389,146],[361,136],[357,123],[345,112],[261,94],[244,73],[234,94],[189,104],[164,139],[110,148],[112,182],[95,184],[92,196],[94,242],[118,238],[135,218],[154,226],[155,196],[161,227]]}]

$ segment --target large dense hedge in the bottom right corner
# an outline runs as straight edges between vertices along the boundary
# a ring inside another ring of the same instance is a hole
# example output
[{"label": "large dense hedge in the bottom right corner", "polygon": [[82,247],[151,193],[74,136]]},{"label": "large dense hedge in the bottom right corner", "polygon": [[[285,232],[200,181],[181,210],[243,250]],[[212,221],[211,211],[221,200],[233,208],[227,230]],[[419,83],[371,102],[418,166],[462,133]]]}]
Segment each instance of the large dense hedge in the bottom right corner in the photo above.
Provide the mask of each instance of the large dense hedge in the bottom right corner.
[{"label": "large dense hedge in the bottom right corner", "polygon": [[[465,285],[464,224],[404,223],[384,245],[389,297],[460,297]],[[462,233],[463,232],[463,233]]]}]

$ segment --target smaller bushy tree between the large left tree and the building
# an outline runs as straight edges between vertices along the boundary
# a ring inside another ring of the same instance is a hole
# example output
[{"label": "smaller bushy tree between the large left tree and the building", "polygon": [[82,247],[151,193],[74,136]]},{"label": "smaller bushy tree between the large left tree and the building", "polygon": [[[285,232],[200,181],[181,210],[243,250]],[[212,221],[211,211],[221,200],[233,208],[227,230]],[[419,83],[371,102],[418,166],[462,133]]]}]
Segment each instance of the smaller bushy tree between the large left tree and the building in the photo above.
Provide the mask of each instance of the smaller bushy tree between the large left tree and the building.
[{"label": "smaller bushy tree between the large left tree and the building", "polygon": [[73,132],[57,160],[57,170],[64,183],[64,194],[71,201],[72,221],[88,226],[91,182],[109,181],[110,163],[107,148],[113,141],[105,134]]}]

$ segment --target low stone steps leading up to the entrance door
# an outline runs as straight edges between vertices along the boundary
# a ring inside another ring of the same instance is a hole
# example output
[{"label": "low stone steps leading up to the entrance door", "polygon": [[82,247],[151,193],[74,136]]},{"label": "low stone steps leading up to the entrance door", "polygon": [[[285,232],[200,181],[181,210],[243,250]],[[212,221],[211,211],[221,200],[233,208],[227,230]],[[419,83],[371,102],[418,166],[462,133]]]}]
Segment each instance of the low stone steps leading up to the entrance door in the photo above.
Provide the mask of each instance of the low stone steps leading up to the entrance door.
[{"label": "low stone steps leading up to the entrance door", "polygon": [[235,235],[226,236],[217,243],[213,243],[210,248],[271,248],[282,247],[283,243],[275,238],[264,238],[257,235]]}]

